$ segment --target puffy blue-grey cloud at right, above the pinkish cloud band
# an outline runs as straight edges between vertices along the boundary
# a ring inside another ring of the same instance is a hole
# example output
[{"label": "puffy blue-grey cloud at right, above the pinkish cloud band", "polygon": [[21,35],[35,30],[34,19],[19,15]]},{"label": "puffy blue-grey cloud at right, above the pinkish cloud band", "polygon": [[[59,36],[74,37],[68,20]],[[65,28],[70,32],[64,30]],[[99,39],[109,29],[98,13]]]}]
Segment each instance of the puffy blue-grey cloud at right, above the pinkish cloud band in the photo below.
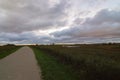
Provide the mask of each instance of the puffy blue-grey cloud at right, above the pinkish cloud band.
[{"label": "puffy blue-grey cloud at right, above the pinkish cloud band", "polygon": [[120,23],[120,11],[112,11],[104,9],[94,16],[93,19],[88,18],[85,24],[101,25],[104,23]]}]

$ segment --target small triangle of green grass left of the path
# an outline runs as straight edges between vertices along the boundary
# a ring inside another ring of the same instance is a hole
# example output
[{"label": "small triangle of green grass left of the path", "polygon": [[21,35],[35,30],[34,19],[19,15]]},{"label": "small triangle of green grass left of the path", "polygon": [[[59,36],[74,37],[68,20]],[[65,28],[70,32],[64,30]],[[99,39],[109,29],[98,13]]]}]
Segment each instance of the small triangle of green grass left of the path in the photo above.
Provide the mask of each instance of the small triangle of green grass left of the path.
[{"label": "small triangle of green grass left of the path", "polygon": [[18,50],[20,46],[0,46],[0,59]]}]

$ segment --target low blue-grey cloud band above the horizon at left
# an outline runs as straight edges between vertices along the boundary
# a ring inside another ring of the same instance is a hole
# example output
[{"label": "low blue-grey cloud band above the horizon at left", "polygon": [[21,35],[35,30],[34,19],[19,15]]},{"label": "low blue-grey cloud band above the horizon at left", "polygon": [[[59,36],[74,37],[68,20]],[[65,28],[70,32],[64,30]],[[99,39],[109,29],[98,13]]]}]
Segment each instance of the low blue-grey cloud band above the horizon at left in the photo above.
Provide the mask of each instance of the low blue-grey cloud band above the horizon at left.
[{"label": "low blue-grey cloud band above the horizon at left", "polygon": [[0,34],[0,42],[3,43],[24,43],[24,44],[32,44],[32,43],[50,43],[52,37],[48,35],[36,35],[32,31],[23,32],[23,33],[1,33]]}]

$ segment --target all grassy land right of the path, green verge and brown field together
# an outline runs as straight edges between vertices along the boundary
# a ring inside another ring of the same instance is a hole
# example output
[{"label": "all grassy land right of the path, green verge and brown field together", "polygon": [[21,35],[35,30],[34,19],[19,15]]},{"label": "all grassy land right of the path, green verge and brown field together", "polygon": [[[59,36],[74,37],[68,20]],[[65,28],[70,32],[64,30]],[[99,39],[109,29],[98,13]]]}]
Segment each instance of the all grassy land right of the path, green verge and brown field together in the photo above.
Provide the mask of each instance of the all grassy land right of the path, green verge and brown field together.
[{"label": "all grassy land right of the path, green verge and brown field together", "polygon": [[44,80],[120,80],[120,44],[41,45],[35,53]]}]

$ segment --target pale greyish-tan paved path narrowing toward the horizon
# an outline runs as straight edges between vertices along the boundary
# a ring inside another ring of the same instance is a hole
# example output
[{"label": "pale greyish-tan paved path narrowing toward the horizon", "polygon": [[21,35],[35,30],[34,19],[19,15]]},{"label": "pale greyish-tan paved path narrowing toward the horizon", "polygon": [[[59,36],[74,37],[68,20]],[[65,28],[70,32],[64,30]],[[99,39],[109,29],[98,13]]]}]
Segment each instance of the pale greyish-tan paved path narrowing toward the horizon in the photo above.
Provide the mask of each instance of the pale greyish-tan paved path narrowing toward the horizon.
[{"label": "pale greyish-tan paved path narrowing toward the horizon", "polygon": [[23,47],[0,60],[0,80],[42,80],[33,51]]}]

